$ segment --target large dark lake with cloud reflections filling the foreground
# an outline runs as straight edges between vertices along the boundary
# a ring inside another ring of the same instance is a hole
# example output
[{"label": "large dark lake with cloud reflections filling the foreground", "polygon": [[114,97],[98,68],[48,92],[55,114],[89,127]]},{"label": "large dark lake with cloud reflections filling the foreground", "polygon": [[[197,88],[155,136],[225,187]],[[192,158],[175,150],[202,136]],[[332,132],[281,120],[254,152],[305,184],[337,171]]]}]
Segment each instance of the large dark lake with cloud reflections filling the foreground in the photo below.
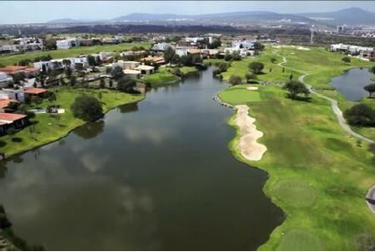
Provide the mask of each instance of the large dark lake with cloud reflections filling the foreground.
[{"label": "large dark lake with cloud reflections filling the foreground", "polygon": [[[266,173],[227,149],[212,69],[14,156],[0,203],[15,234],[55,250],[252,250],[283,213]],[[0,172],[1,174],[1,172]]]}]

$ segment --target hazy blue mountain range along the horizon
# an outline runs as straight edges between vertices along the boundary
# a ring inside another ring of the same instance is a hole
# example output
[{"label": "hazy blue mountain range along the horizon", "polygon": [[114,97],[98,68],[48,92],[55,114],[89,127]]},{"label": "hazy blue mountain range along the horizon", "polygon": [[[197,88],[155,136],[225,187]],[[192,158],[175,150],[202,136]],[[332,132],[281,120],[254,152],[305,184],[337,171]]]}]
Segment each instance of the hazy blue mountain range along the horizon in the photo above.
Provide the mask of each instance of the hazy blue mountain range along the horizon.
[{"label": "hazy blue mountain range along the horizon", "polygon": [[85,22],[200,22],[200,23],[248,23],[248,22],[303,22],[328,25],[375,25],[375,13],[360,8],[347,8],[329,13],[273,13],[273,12],[234,12],[208,14],[174,13],[131,13],[105,21],[84,21],[59,19],[47,23],[85,23]]}]

